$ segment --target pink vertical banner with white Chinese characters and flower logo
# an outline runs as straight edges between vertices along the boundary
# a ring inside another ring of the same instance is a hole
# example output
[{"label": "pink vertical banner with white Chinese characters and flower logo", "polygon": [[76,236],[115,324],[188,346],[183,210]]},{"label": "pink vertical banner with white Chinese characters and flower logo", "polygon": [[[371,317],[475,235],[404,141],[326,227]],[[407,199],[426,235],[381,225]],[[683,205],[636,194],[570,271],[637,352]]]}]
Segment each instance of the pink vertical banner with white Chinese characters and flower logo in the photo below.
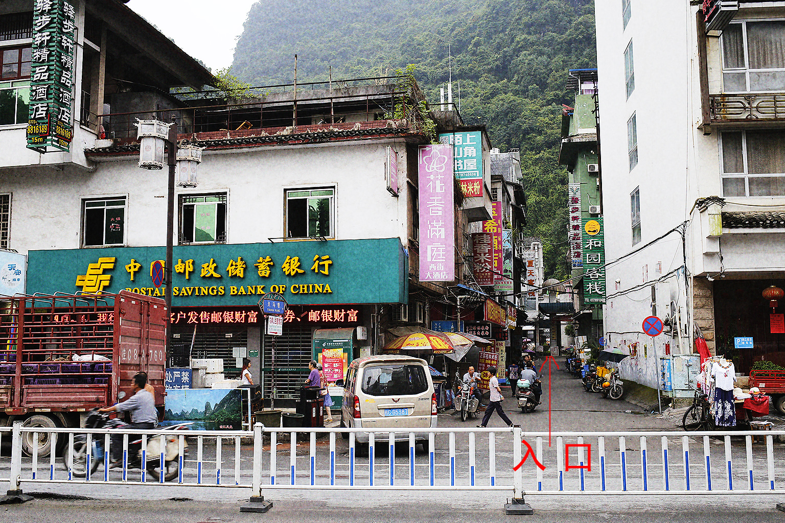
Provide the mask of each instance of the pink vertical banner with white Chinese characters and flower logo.
[{"label": "pink vertical banner with white Chinese characters and flower logo", "polygon": [[421,145],[420,281],[455,280],[455,200],[452,146]]}]

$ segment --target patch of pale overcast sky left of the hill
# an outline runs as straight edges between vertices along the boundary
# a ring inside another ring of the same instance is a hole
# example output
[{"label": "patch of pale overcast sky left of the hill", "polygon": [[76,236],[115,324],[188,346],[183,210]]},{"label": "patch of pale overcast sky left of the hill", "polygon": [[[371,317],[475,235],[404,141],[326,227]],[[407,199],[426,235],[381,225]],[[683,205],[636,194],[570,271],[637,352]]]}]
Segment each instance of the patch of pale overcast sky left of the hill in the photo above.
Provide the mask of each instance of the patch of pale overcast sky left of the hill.
[{"label": "patch of pale overcast sky left of the hill", "polygon": [[232,65],[237,37],[257,0],[130,0],[128,7],[213,72]]}]

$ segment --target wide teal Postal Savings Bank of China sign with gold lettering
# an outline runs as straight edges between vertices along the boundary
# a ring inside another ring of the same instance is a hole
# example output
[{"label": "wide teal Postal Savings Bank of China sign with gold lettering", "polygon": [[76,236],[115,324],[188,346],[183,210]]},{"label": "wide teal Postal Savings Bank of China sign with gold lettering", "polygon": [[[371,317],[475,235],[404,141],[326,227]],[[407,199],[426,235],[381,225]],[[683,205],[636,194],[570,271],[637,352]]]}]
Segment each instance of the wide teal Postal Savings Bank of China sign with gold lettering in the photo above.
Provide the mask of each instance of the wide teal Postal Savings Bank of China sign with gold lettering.
[{"label": "wide teal Postal Savings Bank of China sign with gold lettering", "polygon": [[[163,247],[31,251],[27,292],[127,289],[164,296],[165,285],[156,288],[147,267],[165,254]],[[407,274],[398,238],[178,245],[172,302],[175,307],[255,307],[265,293],[277,292],[300,305],[404,303]]]}]

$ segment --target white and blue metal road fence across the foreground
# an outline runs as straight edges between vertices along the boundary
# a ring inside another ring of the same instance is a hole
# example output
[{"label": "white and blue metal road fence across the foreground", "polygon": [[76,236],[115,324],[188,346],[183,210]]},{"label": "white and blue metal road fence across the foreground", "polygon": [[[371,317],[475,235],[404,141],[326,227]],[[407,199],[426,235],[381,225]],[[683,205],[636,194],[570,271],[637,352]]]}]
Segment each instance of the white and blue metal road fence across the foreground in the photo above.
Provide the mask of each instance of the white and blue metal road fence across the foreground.
[{"label": "white and blue metal road fence across the foreground", "polygon": [[[32,433],[31,456],[22,452]],[[38,435],[58,438],[39,456]],[[122,433],[122,463],[109,467],[111,434]],[[358,435],[363,441],[357,441]],[[253,431],[0,429],[0,481],[323,490],[496,490],[525,494],[652,496],[760,495],[785,490],[785,432],[553,432],[520,428],[265,428]],[[131,465],[130,438],[170,444],[148,468]],[[243,438],[252,438],[253,445]],[[82,442],[80,444],[80,441]],[[87,441],[87,445],[85,445]],[[80,445],[82,451],[79,452]],[[84,449],[86,446],[86,449]],[[96,456],[96,452],[99,455]],[[89,467],[88,467],[89,464]],[[166,474],[164,474],[166,472]]]}]

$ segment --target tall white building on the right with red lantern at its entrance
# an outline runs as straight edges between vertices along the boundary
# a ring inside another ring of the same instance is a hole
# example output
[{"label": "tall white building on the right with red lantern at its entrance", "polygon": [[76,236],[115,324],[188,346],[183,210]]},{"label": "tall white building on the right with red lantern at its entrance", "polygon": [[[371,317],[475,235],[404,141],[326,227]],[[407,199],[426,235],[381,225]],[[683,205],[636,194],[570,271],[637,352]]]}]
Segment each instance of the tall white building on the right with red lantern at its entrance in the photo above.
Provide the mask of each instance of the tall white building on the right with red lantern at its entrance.
[{"label": "tall white building on the right with red lantern at its entrance", "polygon": [[[657,387],[659,358],[702,337],[748,372],[785,356],[782,2],[597,2],[605,339],[622,375]],[[642,322],[663,319],[648,336]],[[751,337],[753,348],[737,348]]]}]

